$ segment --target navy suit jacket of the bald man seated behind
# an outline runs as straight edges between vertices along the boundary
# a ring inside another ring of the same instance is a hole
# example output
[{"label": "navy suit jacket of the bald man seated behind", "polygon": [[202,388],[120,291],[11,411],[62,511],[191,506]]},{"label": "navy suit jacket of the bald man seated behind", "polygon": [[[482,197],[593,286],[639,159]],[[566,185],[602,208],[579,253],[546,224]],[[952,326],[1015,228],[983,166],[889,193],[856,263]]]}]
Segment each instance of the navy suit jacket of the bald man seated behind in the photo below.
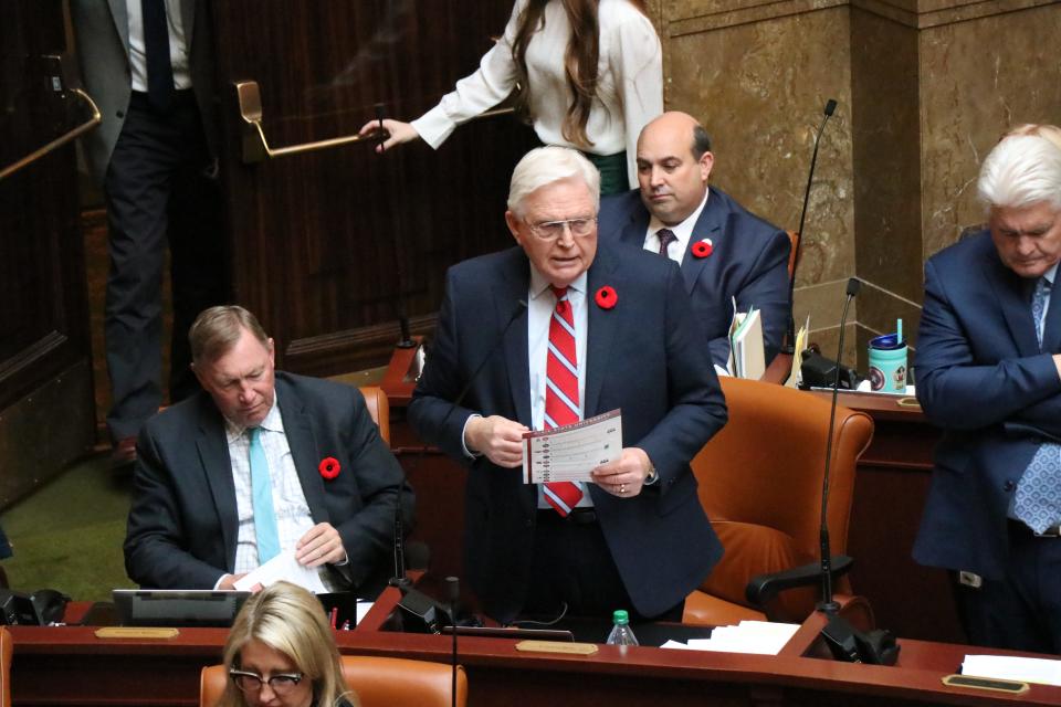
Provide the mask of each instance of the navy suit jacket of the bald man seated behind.
[{"label": "navy suit jacket of the bald man seated behind", "polygon": [[[618,239],[643,249],[649,211],[639,190],[602,199],[599,219],[602,242]],[[703,239],[711,239],[714,250],[707,257],[696,257],[692,254],[693,244]],[[791,314],[790,251],[791,243],[784,231],[753,214],[721,189],[708,190],[707,203],[682,258],[682,275],[715,363],[724,367],[729,359],[734,297],[738,312],[753,306],[761,310],[766,362],[774,360]]]}]

